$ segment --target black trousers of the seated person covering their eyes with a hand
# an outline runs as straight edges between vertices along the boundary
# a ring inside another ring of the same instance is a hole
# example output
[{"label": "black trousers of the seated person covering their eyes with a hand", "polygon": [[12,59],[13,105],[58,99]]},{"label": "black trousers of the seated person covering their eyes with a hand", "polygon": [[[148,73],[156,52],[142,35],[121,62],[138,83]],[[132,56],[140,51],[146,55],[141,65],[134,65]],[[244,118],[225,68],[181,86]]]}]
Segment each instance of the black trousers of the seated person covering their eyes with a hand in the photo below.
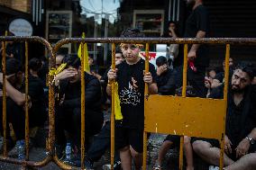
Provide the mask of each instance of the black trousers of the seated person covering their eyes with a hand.
[{"label": "black trousers of the seated person covering their eyes with a hand", "polygon": [[[93,110],[86,110],[85,118],[85,144],[86,148],[89,144],[89,137],[98,133],[104,121],[103,113]],[[57,144],[65,145],[67,139],[64,134],[64,130],[67,130],[70,134],[72,143],[80,148],[81,146],[81,109],[80,108],[56,108],[56,139]]]}]

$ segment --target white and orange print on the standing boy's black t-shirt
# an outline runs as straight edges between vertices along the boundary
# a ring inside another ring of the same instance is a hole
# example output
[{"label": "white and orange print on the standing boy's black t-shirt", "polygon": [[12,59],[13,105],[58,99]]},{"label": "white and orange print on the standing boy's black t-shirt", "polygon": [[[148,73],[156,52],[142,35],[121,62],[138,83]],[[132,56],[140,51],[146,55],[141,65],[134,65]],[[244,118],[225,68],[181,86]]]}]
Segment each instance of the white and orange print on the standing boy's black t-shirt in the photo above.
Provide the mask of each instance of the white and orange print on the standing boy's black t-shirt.
[{"label": "white and orange print on the standing boy's black t-shirt", "polygon": [[124,87],[121,90],[121,94],[119,95],[120,103],[125,104],[133,104],[137,105],[141,103],[140,97],[142,94],[138,90],[138,85],[136,85],[137,81],[132,77],[132,80],[129,82],[128,89]]}]

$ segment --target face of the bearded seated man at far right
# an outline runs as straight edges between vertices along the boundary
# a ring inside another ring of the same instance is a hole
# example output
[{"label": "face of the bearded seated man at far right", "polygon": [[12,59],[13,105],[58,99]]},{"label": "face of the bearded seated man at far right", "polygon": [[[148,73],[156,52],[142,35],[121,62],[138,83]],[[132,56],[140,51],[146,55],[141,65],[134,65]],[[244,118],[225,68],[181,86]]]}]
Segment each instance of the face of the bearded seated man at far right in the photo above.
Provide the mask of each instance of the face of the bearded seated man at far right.
[{"label": "face of the bearded seated man at far right", "polygon": [[233,72],[231,85],[234,92],[241,93],[245,87],[251,85],[250,76],[241,69],[236,69]]}]

